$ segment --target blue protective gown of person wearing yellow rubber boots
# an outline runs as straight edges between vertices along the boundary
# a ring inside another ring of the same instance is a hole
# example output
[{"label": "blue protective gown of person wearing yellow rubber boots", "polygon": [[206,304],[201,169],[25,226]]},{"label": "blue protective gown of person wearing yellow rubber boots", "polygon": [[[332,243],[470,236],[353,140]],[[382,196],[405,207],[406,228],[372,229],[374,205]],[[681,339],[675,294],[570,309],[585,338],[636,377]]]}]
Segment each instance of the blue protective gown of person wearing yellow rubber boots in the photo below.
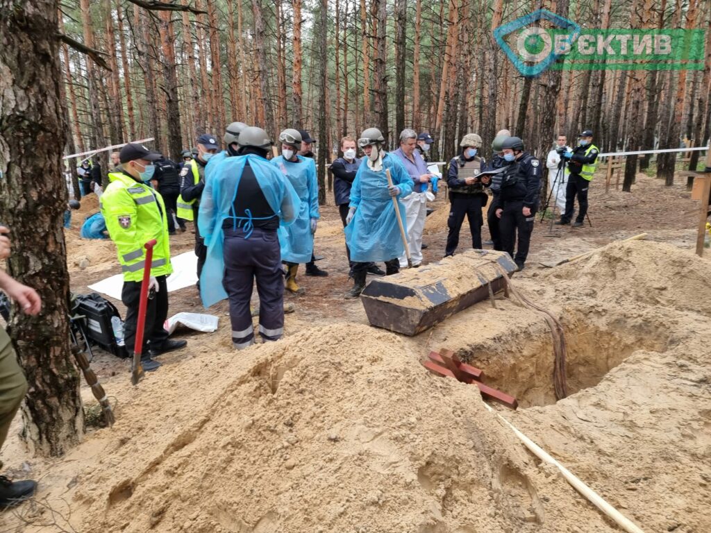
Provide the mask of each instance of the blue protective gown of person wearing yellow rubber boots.
[{"label": "blue protective gown of person wearing yellow rubber boots", "polygon": [[279,228],[279,245],[282,261],[308,263],[314,252],[314,234],[311,219],[319,218],[319,185],[316,183],[316,163],[311,158],[296,156],[299,162],[291,163],[283,156],[272,159],[279,173],[292,184],[301,200],[301,210],[294,224]]}]

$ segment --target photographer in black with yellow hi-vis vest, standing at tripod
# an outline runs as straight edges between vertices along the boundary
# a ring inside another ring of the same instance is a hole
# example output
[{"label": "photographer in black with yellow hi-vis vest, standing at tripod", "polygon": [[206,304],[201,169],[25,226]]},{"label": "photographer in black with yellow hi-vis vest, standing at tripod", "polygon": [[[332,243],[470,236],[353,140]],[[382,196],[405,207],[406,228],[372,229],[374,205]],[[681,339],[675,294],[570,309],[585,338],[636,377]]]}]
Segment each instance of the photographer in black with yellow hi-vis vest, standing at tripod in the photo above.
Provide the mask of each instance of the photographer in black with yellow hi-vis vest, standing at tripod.
[{"label": "photographer in black with yellow hi-vis vest, standing at tripod", "polygon": [[578,146],[562,154],[567,159],[568,183],[565,188],[565,212],[556,225],[568,225],[575,211],[577,195],[579,211],[573,227],[581,227],[587,215],[587,191],[597,168],[597,146],[592,144],[592,131],[586,129],[578,136]]}]

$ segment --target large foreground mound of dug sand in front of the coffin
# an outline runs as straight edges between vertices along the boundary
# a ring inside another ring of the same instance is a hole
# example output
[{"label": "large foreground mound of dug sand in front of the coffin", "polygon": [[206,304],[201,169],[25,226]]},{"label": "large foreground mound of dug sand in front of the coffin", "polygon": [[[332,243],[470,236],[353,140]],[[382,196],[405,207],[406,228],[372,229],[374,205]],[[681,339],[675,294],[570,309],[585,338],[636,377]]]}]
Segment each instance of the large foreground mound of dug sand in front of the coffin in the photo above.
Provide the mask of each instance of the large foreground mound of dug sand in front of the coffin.
[{"label": "large foreground mound of dug sand in front of the coffin", "polygon": [[109,455],[81,477],[83,531],[613,530],[397,335],[333,325],[239,357],[251,369],[189,431],[152,436],[142,473]]}]

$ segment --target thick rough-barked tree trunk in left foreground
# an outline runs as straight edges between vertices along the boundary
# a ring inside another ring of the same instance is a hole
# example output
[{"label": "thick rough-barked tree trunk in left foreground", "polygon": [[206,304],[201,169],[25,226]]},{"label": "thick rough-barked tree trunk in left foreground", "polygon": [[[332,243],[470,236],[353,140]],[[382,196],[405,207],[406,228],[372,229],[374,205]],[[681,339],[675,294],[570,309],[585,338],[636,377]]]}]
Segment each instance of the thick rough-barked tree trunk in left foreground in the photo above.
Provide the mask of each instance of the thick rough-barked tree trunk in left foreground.
[{"label": "thick rough-barked tree trunk in left foreground", "polygon": [[[0,13],[0,212],[12,230],[9,274],[42,298],[38,316],[13,312],[9,333],[29,383],[22,417],[35,451],[59,456],[84,433],[80,377],[69,343],[69,274],[63,232],[63,122],[56,0]],[[42,149],[38,150],[37,147]]]}]

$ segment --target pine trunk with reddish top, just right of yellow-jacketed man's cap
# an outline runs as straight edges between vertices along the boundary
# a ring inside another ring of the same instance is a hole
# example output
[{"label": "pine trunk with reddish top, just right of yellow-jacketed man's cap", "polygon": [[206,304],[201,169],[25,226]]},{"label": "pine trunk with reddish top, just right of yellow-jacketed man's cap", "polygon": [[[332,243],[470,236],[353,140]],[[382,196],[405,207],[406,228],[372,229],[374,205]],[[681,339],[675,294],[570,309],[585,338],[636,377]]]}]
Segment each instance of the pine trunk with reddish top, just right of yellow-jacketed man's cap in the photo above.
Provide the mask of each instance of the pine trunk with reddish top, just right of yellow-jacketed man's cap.
[{"label": "pine trunk with reddish top, just right of yellow-jacketed man's cap", "polygon": [[166,106],[168,108],[168,153],[180,160],[183,136],[181,134],[180,102],[178,99],[178,75],[176,52],[173,43],[173,23],[170,11],[159,11],[161,48],[163,48],[163,72],[166,80]]}]

